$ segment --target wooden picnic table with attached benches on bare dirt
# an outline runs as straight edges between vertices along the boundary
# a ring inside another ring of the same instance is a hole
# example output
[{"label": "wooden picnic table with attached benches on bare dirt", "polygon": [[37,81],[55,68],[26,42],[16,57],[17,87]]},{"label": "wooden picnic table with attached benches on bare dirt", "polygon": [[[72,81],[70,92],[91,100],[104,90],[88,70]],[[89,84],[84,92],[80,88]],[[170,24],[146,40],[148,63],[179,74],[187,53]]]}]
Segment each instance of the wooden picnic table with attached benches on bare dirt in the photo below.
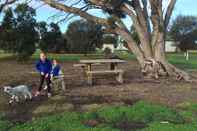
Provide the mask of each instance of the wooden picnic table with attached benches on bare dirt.
[{"label": "wooden picnic table with attached benches on bare dirt", "polygon": [[[126,61],[120,59],[96,59],[96,60],[80,60],[80,64],[74,66],[80,66],[84,69],[87,75],[87,83],[92,85],[92,76],[95,74],[115,74],[116,80],[119,83],[123,83],[123,70],[118,69],[118,64],[125,63]],[[109,64],[110,69],[105,70],[92,70],[92,66],[100,64]]]}]

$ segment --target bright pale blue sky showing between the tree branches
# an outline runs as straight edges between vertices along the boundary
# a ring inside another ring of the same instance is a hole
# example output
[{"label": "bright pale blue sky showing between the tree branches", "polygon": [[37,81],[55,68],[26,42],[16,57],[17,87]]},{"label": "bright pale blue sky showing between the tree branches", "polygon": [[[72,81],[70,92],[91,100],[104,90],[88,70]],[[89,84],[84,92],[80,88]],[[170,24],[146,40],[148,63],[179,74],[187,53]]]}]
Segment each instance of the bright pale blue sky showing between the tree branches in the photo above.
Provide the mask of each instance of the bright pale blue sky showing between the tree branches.
[{"label": "bright pale blue sky showing between the tree branches", "polygon": [[[165,1],[169,1],[169,0],[165,0]],[[197,16],[197,6],[196,5],[197,5],[197,0],[177,0],[177,3],[176,3],[176,6],[175,6],[175,9],[173,11],[171,21],[173,19],[175,19],[176,16],[178,16],[178,15]],[[38,21],[46,21],[47,23],[50,23],[50,22],[60,21],[60,19],[61,19],[61,17],[59,17],[59,16],[54,17],[55,14],[59,14],[58,10],[53,9],[53,8],[47,6],[47,5],[44,5],[43,3],[39,2],[39,0],[34,0],[31,3],[31,6],[37,9],[36,19]],[[97,10],[91,10],[89,13],[91,13],[93,15],[96,15],[96,16],[105,17],[101,12],[99,12]],[[64,13],[60,13],[60,15],[61,14],[63,15]],[[79,17],[75,17],[74,19],[69,20],[67,22],[59,23],[61,31],[65,32],[69,23],[76,20],[76,19],[79,19]],[[130,22],[129,18],[124,20],[124,23],[127,25],[127,27],[130,27],[131,24],[132,24]]]}]

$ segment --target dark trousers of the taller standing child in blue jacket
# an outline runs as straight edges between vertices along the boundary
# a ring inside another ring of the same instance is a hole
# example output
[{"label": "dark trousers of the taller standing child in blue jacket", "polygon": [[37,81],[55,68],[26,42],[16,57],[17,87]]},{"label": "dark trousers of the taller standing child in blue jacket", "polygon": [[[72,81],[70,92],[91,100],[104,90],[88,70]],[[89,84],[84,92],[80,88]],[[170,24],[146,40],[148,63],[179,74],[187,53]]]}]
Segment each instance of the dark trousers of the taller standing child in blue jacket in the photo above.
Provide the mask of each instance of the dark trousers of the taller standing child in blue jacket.
[{"label": "dark trousers of the taller standing child in blue jacket", "polygon": [[51,80],[50,80],[50,76],[48,76],[47,78],[45,78],[45,75],[40,75],[40,86],[39,86],[39,89],[38,91],[41,91],[42,90],[42,86],[44,84],[44,81],[46,81],[47,83],[47,90],[48,90],[48,93],[51,93]]}]

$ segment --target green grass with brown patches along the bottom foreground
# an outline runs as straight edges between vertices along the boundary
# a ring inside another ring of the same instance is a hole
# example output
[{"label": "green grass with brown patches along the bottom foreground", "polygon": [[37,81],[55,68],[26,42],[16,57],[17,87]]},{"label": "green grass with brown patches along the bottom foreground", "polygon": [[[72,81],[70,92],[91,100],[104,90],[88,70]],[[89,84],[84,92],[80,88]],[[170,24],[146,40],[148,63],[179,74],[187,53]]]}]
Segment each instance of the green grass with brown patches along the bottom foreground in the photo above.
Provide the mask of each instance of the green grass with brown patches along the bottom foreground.
[{"label": "green grass with brown patches along the bottom foreground", "polygon": [[0,120],[1,131],[196,131],[196,105],[179,110],[139,101],[132,106],[105,106],[90,112],[65,112],[13,125]]}]

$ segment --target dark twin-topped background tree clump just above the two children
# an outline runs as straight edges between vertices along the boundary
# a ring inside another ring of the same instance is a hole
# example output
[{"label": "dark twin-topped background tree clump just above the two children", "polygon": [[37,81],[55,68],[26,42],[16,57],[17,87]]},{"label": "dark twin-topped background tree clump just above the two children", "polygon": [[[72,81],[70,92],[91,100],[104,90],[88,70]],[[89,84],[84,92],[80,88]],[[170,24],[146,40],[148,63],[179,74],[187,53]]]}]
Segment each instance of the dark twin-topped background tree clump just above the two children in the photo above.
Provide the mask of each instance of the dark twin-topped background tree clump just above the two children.
[{"label": "dark twin-topped background tree clump just above the two children", "polygon": [[65,52],[66,40],[64,39],[57,24],[51,23],[49,27],[45,22],[38,24],[40,34],[39,47],[45,52],[60,53]]}]

